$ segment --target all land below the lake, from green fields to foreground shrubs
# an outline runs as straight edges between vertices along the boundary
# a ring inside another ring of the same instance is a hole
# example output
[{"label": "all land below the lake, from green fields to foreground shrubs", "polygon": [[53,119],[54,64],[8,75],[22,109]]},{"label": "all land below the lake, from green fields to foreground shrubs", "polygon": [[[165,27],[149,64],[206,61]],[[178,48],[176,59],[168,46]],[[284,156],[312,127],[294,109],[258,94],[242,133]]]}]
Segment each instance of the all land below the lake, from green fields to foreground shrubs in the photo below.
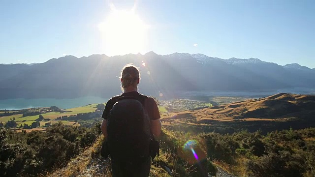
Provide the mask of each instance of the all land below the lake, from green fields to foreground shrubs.
[{"label": "all land below the lake, from green fields to foreground shrubs", "polygon": [[[158,137],[161,155],[152,162],[150,177],[200,177],[205,169],[209,176],[216,177],[265,177],[266,174],[268,177],[276,177],[275,174],[312,177],[315,174],[312,170],[315,95],[278,93],[251,99],[220,96],[199,100],[208,102],[157,100],[163,127]],[[12,165],[12,168],[41,175],[49,170],[45,177],[110,177],[110,158],[104,160],[99,156],[103,141],[99,129],[103,109],[104,104],[89,104],[71,109],[52,106],[2,110],[0,114],[9,114],[0,117],[3,126],[12,121],[18,125],[39,122],[39,126],[31,128],[0,128],[2,135],[7,137],[1,146],[12,149],[10,161],[5,163],[13,163],[32,152],[32,161],[45,170],[32,170],[32,163],[28,161],[23,167]],[[39,113],[41,116],[34,115]],[[10,143],[17,141],[24,142],[21,146],[28,147],[23,149],[29,151],[13,153],[19,148],[18,143]],[[60,141],[64,147],[55,146]],[[189,142],[194,142],[198,159],[185,149]],[[0,153],[6,152],[3,149]],[[49,153],[44,153],[47,150]],[[53,157],[57,151],[65,155]],[[39,163],[43,159],[46,163]],[[52,168],[55,163],[60,165]],[[280,166],[275,168],[277,164]],[[9,166],[3,168],[7,169],[4,176],[16,174]]]}]

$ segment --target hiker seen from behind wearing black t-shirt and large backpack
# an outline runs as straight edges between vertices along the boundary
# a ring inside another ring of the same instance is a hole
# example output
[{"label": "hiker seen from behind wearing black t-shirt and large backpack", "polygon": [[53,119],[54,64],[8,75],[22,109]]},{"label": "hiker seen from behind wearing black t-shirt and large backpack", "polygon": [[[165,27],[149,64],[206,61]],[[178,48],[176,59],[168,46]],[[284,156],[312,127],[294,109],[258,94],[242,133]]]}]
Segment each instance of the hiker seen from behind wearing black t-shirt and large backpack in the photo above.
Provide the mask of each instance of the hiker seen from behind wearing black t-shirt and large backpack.
[{"label": "hiker seen from behind wearing black t-shirt and large backpack", "polygon": [[120,80],[123,93],[107,101],[101,124],[111,156],[112,176],[149,177],[153,146],[150,140],[161,132],[158,106],[152,97],[137,91],[140,74],[136,66],[127,64]]}]

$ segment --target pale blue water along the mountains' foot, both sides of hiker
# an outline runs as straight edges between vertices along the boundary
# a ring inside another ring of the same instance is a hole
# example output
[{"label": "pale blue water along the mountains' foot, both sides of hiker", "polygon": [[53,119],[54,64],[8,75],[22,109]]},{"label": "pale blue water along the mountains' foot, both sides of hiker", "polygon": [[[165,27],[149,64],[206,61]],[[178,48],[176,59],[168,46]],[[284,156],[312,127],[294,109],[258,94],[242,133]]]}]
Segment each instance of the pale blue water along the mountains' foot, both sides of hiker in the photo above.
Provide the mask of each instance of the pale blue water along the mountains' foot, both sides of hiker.
[{"label": "pale blue water along the mountains' foot, both sides of hiker", "polygon": [[[296,94],[315,94],[315,89],[308,88],[290,88],[290,89],[275,89],[275,90],[259,90],[259,91],[177,91],[179,97],[177,99],[191,99],[193,96],[229,96],[229,97],[249,97],[259,98],[270,96],[277,93],[296,93]],[[159,97],[163,100],[163,98]],[[50,107],[57,106],[59,108],[68,109],[80,106],[85,106],[92,103],[106,103],[108,98],[95,96],[86,96],[72,99],[5,99],[0,100],[0,110],[19,110],[34,107]],[[166,98],[167,100],[167,98]]]}]

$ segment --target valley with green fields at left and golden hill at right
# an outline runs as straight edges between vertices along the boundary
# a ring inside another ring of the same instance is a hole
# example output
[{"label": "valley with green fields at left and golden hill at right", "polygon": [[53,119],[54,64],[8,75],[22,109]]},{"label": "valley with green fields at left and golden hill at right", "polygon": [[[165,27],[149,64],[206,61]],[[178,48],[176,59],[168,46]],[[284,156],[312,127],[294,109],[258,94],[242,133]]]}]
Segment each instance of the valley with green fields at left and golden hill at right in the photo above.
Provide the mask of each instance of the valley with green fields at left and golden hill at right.
[{"label": "valley with green fields at left and golden hill at right", "polygon": [[[241,130],[264,133],[287,128],[306,128],[315,125],[315,96],[279,93],[264,98],[248,97],[199,97],[196,101],[189,99],[158,100],[161,121],[165,128],[176,131],[233,133]],[[236,101],[236,102],[234,102]],[[233,102],[233,103],[230,103]],[[5,124],[14,120],[16,128],[24,129],[25,125],[45,129],[51,124],[62,121],[67,125],[92,126],[101,121],[104,104],[59,109],[31,108],[22,112],[37,113],[23,116],[21,110],[0,112],[0,122]],[[6,114],[9,114],[5,116]],[[39,119],[39,115],[42,119]],[[26,127],[28,127],[26,126]],[[30,129],[27,128],[27,129]],[[30,129],[32,130],[32,129]],[[28,130],[28,131],[30,131]]]}]

